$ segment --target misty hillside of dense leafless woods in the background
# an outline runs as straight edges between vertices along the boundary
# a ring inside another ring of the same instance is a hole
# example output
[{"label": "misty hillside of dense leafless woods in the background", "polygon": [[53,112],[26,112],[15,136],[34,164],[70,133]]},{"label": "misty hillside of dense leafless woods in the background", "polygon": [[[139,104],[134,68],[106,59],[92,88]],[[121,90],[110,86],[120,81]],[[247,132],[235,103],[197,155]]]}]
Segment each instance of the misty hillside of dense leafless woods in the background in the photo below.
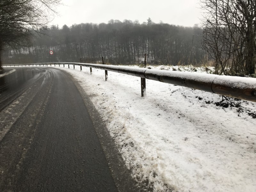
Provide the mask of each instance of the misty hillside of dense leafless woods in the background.
[{"label": "misty hillside of dense leafless woods in the background", "polygon": [[[151,21],[151,20],[150,20]],[[81,23],[39,29],[30,46],[5,47],[3,63],[82,62],[138,64],[144,53],[151,64],[193,64],[205,60],[200,44],[203,29],[165,23],[110,20],[107,24]],[[40,35],[41,34],[41,35]],[[44,34],[44,35],[43,35]]]}]

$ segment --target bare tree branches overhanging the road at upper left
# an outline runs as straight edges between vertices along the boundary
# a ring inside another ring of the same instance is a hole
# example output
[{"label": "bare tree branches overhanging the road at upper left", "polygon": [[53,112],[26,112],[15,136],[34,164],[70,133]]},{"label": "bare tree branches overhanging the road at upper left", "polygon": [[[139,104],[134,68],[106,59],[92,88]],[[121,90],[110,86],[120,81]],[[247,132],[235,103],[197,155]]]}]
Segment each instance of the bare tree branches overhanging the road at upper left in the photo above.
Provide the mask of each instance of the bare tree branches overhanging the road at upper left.
[{"label": "bare tree branches overhanging the road at upper left", "polygon": [[[36,29],[43,28],[56,12],[61,0],[1,0],[0,53],[8,44],[22,44]],[[0,68],[1,54],[0,54]]]}]

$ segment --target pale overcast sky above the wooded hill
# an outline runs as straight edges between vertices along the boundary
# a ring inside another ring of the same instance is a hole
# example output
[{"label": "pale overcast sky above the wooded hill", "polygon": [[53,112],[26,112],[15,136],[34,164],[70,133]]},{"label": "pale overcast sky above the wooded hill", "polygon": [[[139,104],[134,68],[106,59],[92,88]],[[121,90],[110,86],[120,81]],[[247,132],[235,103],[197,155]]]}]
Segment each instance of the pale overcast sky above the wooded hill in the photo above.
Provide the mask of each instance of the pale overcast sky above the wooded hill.
[{"label": "pale overcast sky above the wooded hill", "polygon": [[201,13],[199,0],[62,0],[67,6],[59,6],[60,16],[51,24],[62,27],[79,23],[108,23],[109,20],[139,20],[193,26],[199,23]]}]

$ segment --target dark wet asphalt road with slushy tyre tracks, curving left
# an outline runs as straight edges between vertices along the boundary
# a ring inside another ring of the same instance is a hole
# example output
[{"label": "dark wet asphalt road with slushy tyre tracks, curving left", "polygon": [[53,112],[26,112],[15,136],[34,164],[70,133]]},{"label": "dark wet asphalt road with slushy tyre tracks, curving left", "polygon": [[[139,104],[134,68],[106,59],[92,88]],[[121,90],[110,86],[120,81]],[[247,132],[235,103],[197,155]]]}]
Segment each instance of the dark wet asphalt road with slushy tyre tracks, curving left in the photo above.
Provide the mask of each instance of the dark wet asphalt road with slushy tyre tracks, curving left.
[{"label": "dark wet asphalt road with slushy tyre tracks, curving left", "polygon": [[15,69],[0,77],[0,191],[117,191],[72,80]]}]

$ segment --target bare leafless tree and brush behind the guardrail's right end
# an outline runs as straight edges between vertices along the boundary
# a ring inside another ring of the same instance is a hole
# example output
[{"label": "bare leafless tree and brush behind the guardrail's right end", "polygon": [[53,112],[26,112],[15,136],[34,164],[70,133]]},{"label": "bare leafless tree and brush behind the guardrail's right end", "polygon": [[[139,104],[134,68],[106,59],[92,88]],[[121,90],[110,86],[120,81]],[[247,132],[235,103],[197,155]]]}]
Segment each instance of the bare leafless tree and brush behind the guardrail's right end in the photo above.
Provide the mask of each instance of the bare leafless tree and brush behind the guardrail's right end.
[{"label": "bare leafless tree and brush behind the guardrail's right end", "polygon": [[201,0],[203,47],[216,74],[252,74],[256,64],[255,0]]}]

